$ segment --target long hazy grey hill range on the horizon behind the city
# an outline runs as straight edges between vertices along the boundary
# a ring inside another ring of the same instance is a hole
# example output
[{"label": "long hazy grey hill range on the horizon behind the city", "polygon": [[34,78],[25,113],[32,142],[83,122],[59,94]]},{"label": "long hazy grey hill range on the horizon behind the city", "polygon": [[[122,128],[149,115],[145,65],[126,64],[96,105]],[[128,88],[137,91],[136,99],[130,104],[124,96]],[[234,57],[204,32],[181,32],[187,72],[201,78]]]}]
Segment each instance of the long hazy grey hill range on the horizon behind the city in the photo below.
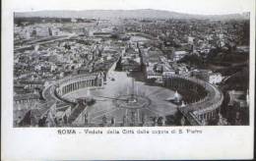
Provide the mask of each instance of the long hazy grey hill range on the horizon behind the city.
[{"label": "long hazy grey hill range on the horizon behind the city", "polygon": [[84,10],[84,11],[35,11],[16,12],[15,17],[41,17],[41,18],[95,18],[95,19],[249,19],[249,13],[229,15],[190,15],[170,11],[141,9],[141,10]]}]

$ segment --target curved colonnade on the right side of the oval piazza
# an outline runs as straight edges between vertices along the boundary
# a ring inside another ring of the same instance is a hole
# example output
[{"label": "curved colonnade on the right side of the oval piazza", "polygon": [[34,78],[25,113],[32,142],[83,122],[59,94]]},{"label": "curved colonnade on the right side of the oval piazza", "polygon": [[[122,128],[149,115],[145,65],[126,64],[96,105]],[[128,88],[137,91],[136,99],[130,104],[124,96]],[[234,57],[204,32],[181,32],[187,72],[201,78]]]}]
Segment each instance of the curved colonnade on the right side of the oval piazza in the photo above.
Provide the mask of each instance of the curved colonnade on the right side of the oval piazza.
[{"label": "curved colonnade on the right side of the oval piazza", "polygon": [[219,114],[224,95],[217,86],[204,80],[178,75],[164,77],[163,85],[182,95],[186,105],[178,109],[190,125],[205,125]]}]

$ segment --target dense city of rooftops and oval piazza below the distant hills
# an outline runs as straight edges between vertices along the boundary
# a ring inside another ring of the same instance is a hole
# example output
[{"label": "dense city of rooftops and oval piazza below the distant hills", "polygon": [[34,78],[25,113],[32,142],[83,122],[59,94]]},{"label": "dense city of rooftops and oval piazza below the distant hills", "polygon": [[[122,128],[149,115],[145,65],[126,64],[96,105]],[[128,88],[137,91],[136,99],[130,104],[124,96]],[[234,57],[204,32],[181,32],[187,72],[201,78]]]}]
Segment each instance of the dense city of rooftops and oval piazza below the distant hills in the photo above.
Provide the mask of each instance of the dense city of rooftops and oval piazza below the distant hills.
[{"label": "dense city of rooftops and oval piazza below the distant hills", "polygon": [[249,125],[249,19],[14,17],[14,127]]}]

